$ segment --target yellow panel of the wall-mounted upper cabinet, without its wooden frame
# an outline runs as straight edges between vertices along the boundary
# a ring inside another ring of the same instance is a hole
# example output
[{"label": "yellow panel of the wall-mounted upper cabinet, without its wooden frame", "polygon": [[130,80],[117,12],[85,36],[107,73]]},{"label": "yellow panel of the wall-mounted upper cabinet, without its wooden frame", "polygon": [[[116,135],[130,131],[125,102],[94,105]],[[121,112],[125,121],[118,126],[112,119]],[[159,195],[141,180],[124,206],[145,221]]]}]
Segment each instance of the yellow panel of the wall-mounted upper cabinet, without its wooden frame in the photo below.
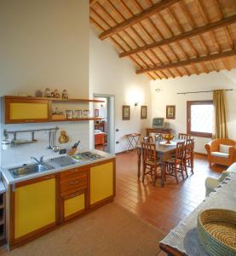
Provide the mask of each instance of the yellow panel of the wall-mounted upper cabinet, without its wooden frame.
[{"label": "yellow panel of the wall-mounted upper cabinet, without its wooden frame", "polygon": [[48,119],[47,103],[10,103],[9,119]]}]

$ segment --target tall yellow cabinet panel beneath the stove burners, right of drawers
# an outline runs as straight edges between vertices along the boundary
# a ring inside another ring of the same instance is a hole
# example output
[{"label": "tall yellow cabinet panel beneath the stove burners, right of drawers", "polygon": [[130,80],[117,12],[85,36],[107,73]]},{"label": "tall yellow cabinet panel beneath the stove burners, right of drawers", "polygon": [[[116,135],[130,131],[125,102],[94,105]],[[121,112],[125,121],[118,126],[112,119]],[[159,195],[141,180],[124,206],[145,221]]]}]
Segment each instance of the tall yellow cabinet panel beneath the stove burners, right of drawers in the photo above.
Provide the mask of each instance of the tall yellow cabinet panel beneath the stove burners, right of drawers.
[{"label": "tall yellow cabinet panel beneath the stove burners, right of drawers", "polygon": [[90,204],[113,195],[113,163],[90,168]]}]

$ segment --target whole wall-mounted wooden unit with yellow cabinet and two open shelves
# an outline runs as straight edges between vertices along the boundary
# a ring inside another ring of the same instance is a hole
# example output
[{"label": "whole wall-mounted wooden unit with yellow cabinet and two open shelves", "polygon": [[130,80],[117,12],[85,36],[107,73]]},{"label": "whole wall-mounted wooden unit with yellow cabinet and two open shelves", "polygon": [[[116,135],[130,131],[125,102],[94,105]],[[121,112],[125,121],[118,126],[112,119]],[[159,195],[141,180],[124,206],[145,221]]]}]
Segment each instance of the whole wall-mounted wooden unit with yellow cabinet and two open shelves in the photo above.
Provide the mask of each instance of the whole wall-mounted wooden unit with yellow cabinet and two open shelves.
[{"label": "whole wall-mounted wooden unit with yellow cabinet and two open shelves", "polygon": [[32,96],[3,96],[5,106],[5,124],[24,123],[46,123],[46,122],[66,122],[66,121],[89,121],[101,118],[84,117],[81,119],[53,119],[54,103],[89,103],[104,102],[94,99],[58,99]]}]

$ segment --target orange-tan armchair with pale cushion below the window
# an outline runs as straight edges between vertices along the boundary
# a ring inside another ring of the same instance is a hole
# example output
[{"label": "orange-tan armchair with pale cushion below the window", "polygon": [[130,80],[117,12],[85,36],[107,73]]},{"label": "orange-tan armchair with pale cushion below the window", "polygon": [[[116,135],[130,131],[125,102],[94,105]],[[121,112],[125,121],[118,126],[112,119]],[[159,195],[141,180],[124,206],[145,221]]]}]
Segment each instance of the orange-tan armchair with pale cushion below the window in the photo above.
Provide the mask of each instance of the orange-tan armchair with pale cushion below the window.
[{"label": "orange-tan armchair with pale cushion below the window", "polygon": [[[225,146],[229,146],[229,148]],[[233,140],[215,139],[210,141],[210,143],[205,144],[204,148],[207,151],[209,166],[211,166],[211,163],[219,164],[222,166],[231,166],[233,162],[236,161],[236,142]],[[224,150],[222,150],[222,148]]]}]

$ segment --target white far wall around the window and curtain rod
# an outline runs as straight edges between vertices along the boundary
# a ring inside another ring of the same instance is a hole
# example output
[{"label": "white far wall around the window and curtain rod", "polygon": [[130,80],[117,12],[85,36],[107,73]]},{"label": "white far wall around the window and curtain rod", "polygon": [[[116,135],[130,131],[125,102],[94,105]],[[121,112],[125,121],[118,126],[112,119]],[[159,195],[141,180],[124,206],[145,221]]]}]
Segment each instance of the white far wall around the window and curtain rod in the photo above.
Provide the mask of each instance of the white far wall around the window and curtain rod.
[{"label": "white far wall around the window and curtain rod", "polygon": [[[161,89],[156,92],[155,89]],[[177,95],[177,92],[196,90],[234,89],[226,91],[227,119],[229,137],[236,140],[236,69],[230,72],[193,75],[179,79],[168,79],[151,82],[152,116],[165,117],[166,105],[176,105],[176,119],[168,119],[170,128],[177,133],[187,131],[187,101],[212,100],[211,93]],[[195,151],[205,153],[204,144],[209,138],[195,137]]]}]

